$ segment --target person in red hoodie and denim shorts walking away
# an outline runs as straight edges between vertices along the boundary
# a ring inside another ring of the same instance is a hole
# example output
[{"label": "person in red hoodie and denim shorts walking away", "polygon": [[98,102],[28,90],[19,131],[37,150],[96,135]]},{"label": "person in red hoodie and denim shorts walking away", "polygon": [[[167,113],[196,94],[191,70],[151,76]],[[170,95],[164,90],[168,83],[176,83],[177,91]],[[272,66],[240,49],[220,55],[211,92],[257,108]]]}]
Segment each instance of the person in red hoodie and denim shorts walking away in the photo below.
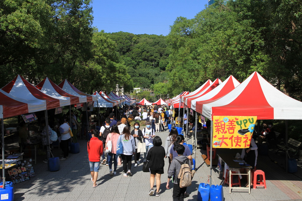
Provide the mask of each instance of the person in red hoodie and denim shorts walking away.
[{"label": "person in red hoodie and denim shorts walking away", "polygon": [[93,182],[93,188],[97,187],[96,181],[98,180],[98,169],[100,168],[100,159],[103,154],[103,142],[98,139],[98,130],[92,131],[92,138],[88,141],[87,151],[91,173],[91,181]]}]

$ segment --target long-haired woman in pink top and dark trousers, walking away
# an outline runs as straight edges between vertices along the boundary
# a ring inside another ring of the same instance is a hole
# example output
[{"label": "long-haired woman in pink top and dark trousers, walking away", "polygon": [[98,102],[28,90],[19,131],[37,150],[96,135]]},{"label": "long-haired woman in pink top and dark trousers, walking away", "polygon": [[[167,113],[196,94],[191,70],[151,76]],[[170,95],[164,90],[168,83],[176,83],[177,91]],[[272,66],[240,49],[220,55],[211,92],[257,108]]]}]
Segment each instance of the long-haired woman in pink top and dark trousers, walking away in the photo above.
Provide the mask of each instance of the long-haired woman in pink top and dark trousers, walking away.
[{"label": "long-haired woman in pink top and dark trousers, walking away", "polygon": [[[109,165],[109,172],[110,172],[110,176],[112,176],[113,174],[116,174],[116,169],[117,169],[117,155],[116,155],[116,145],[117,145],[117,140],[120,137],[120,132],[118,131],[118,127],[117,125],[113,125],[111,127],[111,133],[108,134],[107,138],[106,138],[106,143],[105,143],[105,149],[104,151],[106,151],[106,146],[109,140],[111,140],[112,143],[112,149],[111,152],[107,153],[108,155],[108,165]],[[113,163],[114,163],[114,171],[112,173],[112,159],[113,159]]]}]

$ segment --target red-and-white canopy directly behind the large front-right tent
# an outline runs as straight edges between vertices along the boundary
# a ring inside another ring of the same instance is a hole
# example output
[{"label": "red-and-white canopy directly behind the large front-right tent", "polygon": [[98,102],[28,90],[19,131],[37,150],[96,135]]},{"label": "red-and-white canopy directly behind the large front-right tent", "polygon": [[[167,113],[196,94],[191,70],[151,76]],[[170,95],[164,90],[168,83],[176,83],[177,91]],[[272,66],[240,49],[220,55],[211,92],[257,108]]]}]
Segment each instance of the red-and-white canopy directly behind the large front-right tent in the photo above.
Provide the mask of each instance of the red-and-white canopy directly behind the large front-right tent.
[{"label": "red-and-white canopy directly behind the large front-right tent", "polygon": [[[213,102],[216,99],[221,98],[222,96],[226,95],[233,89],[235,89],[240,83],[238,80],[236,80],[235,77],[232,75],[228,77],[226,80],[223,81],[220,85],[218,85],[216,88],[214,88],[212,91],[204,94],[203,96],[194,99],[191,101],[191,109],[196,111],[196,103],[198,104],[199,101],[207,101],[207,102]],[[202,108],[198,107],[198,113],[202,113]]]}]

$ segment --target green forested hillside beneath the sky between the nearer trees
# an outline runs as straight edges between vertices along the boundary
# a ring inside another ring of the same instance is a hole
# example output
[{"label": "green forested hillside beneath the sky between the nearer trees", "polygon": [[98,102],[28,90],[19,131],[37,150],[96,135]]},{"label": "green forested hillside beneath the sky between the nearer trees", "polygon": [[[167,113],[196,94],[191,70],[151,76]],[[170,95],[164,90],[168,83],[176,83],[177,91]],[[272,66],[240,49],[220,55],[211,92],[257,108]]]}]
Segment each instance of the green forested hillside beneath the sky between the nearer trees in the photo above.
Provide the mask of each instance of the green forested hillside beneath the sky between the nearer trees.
[{"label": "green forested hillside beneath the sky between the nearer trees", "polygon": [[165,36],[127,32],[111,33],[110,36],[117,43],[117,51],[128,67],[134,87],[152,88],[153,84],[167,81],[165,69],[169,52]]}]

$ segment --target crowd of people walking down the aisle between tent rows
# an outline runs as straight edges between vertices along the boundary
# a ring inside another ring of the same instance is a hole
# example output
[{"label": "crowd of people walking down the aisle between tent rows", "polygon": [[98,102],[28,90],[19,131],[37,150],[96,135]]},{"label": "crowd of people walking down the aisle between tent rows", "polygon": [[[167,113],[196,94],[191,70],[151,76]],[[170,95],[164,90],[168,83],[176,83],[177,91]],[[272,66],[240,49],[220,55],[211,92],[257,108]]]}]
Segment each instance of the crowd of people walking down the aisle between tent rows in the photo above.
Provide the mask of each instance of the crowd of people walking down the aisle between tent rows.
[{"label": "crowd of people walking down the aisle between tent rows", "polygon": [[[93,131],[92,138],[87,144],[92,187],[98,186],[96,175],[100,165],[108,166],[110,176],[114,176],[117,174],[118,163],[122,163],[123,176],[128,177],[132,176],[132,168],[136,168],[141,162],[147,162],[150,173],[149,195],[159,196],[160,179],[164,174],[164,159],[168,157],[169,170],[166,188],[169,189],[169,181],[174,177],[173,200],[183,200],[188,197],[189,195],[185,193],[186,187],[179,187],[177,178],[181,162],[185,163],[185,160],[188,159],[191,169],[191,164],[193,164],[192,153],[188,146],[183,144],[184,136],[178,135],[174,127],[164,142],[156,135],[156,132],[165,129],[167,122],[170,123],[170,116],[169,110],[160,106],[123,108],[123,112],[120,112],[120,121],[115,119],[114,113],[110,113],[109,118],[104,120],[105,125],[101,126],[100,131]],[[146,125],[143,129],[140,129],[140,118]],[[132,165],[133,159],[134,165]],[[156,190],[153,188],[155,180]]]}]

